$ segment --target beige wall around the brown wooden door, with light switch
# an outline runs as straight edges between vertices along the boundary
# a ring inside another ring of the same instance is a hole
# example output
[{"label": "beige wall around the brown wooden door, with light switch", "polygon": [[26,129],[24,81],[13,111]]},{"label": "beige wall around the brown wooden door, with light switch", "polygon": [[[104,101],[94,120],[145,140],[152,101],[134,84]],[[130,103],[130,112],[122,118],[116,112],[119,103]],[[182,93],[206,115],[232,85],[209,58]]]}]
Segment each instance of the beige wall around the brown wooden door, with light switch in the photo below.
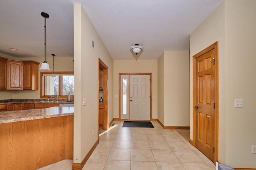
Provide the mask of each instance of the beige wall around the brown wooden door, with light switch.
[{"label": "beige wall around the brown wooden door, with light switch", "polygon": [[190,36],[191,72],[192,56],[219,41],[219,162],[231,167],[256,168],[255,8],[255,0],[225,0]]}]

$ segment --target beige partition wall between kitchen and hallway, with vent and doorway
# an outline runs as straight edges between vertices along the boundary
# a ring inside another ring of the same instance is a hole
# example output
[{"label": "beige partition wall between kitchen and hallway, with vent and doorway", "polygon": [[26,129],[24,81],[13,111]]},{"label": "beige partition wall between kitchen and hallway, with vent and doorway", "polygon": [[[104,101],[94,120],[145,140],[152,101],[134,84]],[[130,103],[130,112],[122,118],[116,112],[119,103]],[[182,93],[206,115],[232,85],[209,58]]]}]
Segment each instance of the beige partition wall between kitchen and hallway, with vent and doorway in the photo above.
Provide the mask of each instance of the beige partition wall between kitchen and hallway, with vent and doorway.
[{"label": "beige partition wall between kitchen and hallway, with vent and doorway", "polygon": [[[82,5],[74,4],[74,163],[81,163],[98,139],[98,57],[108,66],[108,121],[111,121],[113,60]],[[82,99],[86,99],[86,106],[82,106]]]}]

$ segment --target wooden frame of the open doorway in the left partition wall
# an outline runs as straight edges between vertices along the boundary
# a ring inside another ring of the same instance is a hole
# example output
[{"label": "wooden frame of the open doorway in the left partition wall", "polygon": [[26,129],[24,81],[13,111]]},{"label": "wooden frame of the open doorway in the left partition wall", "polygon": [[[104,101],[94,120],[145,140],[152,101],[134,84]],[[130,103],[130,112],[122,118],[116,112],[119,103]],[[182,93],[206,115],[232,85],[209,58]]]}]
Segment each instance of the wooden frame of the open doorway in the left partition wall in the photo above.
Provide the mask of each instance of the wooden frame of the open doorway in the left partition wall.
[{"label": "wooden frame of the open doorway in the left partition wall", "polygon": [[[103,130],[108,130],[108,66],[100,59],[98,58],[98,99],[99,99],[99,81],[100,81],[100,68],[103,69]],[[98,100],[98,140],[99,140],[99,134],[100,134],[100,128],[99,128],[99,114],[100,109],[100,103]]]}]

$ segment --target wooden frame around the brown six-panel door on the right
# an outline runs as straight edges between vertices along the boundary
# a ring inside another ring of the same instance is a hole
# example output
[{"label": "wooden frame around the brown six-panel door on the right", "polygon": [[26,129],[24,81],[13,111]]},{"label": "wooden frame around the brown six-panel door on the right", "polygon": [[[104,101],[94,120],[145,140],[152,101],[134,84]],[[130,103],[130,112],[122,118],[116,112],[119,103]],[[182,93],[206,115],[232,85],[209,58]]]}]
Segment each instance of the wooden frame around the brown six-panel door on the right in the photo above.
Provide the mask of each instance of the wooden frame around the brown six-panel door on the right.
[{"label": "wooden frame around the brown six-panel door on the right", "polygon": [[218,57],[218,41],[210,45],[209,47],[206,47],[199,53],[193,55],[193,141],[190,141],[190,143],[195,147],[196,146],[196,109],[194,109],[194,106],[196,106],[196,58],[200,57],[201,55],[207,53],[208,51],[211,51],[212,49],[215,49],[215,79],[214,79],[214,100],[215,100],[215,109],[214,109],[214,114],[215,114],[215,119],[214,119],[214,164],[215,162],[218,162],[218,132],[219,132],[219,77],[218,77],[218,72],[219,72],[219,57]]}]

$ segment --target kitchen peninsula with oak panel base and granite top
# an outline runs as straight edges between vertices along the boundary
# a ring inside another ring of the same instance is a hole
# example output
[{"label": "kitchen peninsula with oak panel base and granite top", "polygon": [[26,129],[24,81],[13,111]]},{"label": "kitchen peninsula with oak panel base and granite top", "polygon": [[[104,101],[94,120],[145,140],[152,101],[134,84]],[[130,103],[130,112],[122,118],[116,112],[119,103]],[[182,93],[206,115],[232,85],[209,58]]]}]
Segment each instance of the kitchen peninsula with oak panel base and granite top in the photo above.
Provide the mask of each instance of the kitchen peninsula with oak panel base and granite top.
[{"label": "kitchen peninsula with oak panel base and granite top", "polygon": [[2,169],[38,169],[73,159],[74,107],[0,112]]}]

